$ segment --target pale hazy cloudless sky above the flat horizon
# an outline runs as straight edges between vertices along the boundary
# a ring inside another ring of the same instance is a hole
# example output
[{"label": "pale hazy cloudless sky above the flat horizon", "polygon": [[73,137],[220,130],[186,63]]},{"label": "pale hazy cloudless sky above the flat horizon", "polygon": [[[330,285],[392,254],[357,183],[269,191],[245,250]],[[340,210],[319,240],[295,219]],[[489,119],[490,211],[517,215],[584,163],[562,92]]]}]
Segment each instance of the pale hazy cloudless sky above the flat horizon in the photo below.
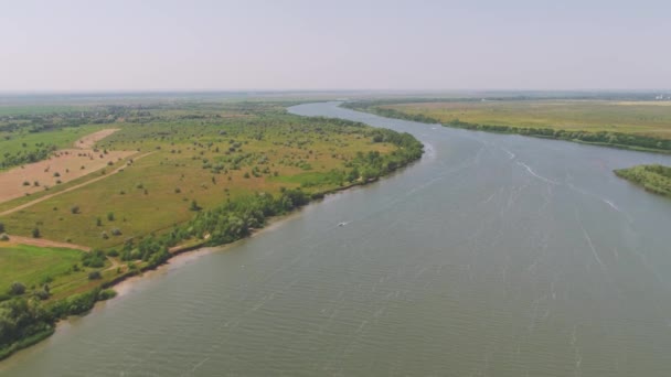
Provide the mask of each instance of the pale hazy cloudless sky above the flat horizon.
[{"label": "pale hazy cloudless sky above the flat horizon", "polygon": [[671,1],[0,0],[0,91],[671,88]]}]

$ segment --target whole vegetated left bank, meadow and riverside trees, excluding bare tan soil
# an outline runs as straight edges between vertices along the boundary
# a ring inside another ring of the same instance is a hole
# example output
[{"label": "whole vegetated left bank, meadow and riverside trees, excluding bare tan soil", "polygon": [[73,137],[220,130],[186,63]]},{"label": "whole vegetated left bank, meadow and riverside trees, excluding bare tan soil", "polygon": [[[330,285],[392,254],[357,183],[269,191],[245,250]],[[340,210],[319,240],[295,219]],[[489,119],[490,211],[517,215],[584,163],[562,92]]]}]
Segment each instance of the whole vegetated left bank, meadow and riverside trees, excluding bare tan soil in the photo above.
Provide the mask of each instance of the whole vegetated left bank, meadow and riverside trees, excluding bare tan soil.
[{"label": "whole vegetated left bank, meadow and riverside trees, excluding bare tan soil", "polygon": [[[85,313],[114,297],[110,286],[175,252],[246,237],[270,216],[375,181],[423,153],[411,134],[292,116],[283,104],[143,104],[77,112],[79,118],[73,111],[0,114],[0,132],[10,143],[22,142],[21,132],[44,137],[104,123],[118,131],[90,148],[102,155],[136,153],[49,194],[31,194],[39,201],[0,205],[0,234],[10,235],[0,241],[0,358],[51,335],[58,319]],[[19,245],[14,235],[93,250]]]}]

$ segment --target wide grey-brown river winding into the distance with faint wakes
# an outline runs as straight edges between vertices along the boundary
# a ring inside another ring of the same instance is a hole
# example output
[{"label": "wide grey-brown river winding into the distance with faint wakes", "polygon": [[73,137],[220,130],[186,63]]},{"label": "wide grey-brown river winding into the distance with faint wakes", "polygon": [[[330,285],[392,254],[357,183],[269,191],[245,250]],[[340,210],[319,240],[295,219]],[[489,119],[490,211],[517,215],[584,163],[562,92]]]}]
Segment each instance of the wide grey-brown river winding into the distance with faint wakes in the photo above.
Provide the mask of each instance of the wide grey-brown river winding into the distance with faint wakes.
[{"label": "wide grey-brown river winding into the distance with faint wakes", "polygon": [[0,375],[671,376],[671,200],[613,174],[671,157],[290,111],[426,153],[138,279]]}]

